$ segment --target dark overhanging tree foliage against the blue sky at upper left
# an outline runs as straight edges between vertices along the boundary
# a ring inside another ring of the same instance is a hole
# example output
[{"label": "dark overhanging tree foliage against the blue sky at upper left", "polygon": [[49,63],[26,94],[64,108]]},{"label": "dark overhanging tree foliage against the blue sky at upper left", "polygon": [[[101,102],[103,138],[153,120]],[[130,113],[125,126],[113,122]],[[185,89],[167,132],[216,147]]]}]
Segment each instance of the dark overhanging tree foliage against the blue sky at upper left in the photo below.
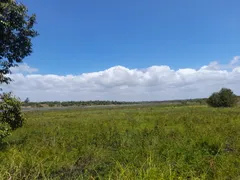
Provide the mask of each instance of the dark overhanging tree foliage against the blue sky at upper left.
[{"label": "dark overhanging tree foliage against the blue sky at upper left", "polygon": [[26,6],[15,0],[0,1],[0,84],[9,83],[10,68],[32,52],[31,39],[36,16],[28,15]]}]

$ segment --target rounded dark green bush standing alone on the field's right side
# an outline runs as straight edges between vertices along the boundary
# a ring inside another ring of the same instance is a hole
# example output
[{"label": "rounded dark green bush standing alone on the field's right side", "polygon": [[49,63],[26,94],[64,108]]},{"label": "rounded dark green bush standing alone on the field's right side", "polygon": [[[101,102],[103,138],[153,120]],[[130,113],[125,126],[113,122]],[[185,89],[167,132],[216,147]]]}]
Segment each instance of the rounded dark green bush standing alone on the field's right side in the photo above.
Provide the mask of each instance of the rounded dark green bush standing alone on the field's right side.
[{"label": "rounded dark green bush standing alone on the field's right side", "polygon": [[212,107],[233,107],[237,104],[237,96],[231,89],[222,88],[219,92],[213,93],[207,103]]}]

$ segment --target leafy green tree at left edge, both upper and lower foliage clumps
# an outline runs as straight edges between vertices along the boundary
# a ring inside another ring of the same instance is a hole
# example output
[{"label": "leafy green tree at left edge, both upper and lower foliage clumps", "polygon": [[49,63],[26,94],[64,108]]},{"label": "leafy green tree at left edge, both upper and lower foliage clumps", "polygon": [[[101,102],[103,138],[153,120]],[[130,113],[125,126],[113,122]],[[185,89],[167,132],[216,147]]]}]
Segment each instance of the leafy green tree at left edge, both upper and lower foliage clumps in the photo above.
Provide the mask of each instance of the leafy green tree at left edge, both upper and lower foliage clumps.
[{"label": "leafy green tree at left edge, both upper and lower foliage clumps", "polygon": [[[10,83],[10,68],[32,53],[36,16],[15,0],[0,1],[0,84]],[[11,93],[0,94],[0,141],[22,126],[21,102]]]}]

